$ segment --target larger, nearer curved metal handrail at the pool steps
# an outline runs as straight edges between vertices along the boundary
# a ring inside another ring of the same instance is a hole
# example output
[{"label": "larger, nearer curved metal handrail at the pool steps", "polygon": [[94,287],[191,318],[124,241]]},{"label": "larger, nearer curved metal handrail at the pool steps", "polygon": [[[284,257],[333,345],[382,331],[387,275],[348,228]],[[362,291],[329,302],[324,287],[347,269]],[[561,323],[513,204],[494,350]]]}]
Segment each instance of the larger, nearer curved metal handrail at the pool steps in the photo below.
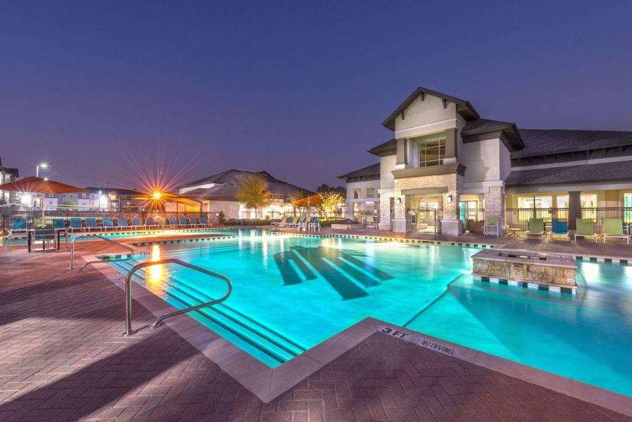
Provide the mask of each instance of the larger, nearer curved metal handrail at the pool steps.
[{"label": "larger, nearer curved metal handrail at the pool steps", "polygon": [[197,272],[202,272],[206,275],[210,275],[211,277],[222,279],[228,285],[228,290],[226,291],[226,294],[222,298],[216,299],[215,301],[200,303],[199,305],[189,306],[188,308],[176,310],[176,311],[161,315],[154,321],[153,324],[151,324],[150,326],[151,328],[160,327],[162,325],[162,322],[167,318],[175,317],[177,315],[182,315],[187,312],[191,312],[192,310],[198,310],[199,308],[206,308],[207,306],[217,305],[218,303],[221,303],[225,301],[226,299],[228,299],[228,296],[230,296],[230,293],[232,292],[232,283],[230,282],[230,279],[226,277],[225,275],[221,275],[209,270],[204,270],[204,268],[199,268],[197,265],[185,263],[184,261],[180,261],[179,259],[176,259],[176,258],[166,258],[166,259],[161,259],[159,261],[147,261],[146,263],[140,263],[138,265],[135,265],[131,270],[129,270],[129,272],[127,273],[127,277],[125,277],[125,332],[123,333],[124,336],[131,336],[132,334],[136,333],[136,331],[138,331],[138,330],[133,330],[131,328],[131,278],[132,276],[134,275],[136,271],[140,270],[140,268],[150,267],[152,265],[162,265],[162,264],[178,264],[178,265],[182,265],[183,267],[195,270]]}]

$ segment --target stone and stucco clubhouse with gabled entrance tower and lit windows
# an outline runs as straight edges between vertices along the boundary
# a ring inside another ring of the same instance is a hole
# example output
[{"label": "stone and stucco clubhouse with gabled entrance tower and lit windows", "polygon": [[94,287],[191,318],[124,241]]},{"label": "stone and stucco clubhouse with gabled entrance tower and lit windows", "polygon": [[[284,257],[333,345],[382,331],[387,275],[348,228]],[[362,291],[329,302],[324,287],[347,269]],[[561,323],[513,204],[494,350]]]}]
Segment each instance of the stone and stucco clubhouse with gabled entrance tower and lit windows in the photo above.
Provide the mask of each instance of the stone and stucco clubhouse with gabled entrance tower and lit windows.
[{"label": "stone and stucco clubhouse with gabled entrance tower and lit windows", "polygon": [[346,173],[349,218],[381,230],[460,235],[529,218],[632,222],[632,132],[521,129],[482,119],[469,101],[423,87],[383,126],[379,163]]}]

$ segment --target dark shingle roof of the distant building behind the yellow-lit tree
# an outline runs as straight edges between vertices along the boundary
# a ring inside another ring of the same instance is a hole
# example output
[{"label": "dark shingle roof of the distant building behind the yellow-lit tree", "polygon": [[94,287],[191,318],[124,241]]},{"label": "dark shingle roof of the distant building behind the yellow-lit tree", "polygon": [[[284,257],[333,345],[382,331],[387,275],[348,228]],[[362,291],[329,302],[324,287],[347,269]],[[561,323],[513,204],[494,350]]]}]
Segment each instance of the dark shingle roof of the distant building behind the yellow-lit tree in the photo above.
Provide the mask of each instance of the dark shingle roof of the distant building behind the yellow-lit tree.
[{"label": "dark shingle roof of the distant building behind the yellow-lit tree", "polygon": [[272,194],[289,195],[297,190],[303,190],[310,194],[313,193],[302,187],[273,178],[267,171],[245,171],[236,169],[230,169],[207,178],[196,180],[195,182],[187,183],[186,185],[178,187],[178,189],[216,183],[216,186],[209,187],[208,189],[198,188],[185,192],[185,196],[196,197],[198,199],[215,199],[216,201],[235,201],[237,199],[235,183],[237,183],[239,177],[244,174],[259,174],[263,176],[265,183],[268,183],[268,190],[270,190]]}]

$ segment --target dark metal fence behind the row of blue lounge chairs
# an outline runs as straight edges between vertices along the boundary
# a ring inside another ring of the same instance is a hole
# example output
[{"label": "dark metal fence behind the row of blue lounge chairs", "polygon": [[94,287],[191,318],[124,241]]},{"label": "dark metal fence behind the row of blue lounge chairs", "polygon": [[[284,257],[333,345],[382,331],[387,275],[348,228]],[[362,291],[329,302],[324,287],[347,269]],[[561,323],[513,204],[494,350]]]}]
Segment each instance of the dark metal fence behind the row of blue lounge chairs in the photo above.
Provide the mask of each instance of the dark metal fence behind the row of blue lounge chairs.
[{"label": "dark metal fence behind the row of blue lounge chairs", "polygon": [[[156,213],[156,212],[147,212],[147,211],[73,211],[73,210],[62,210],[62,211],[46,211],[44,213],[44,227],[52,227],[53,220],[62,219],[65,220],[66,225],[68,225],[71,217],[80,217],[80,218],[96,218],[98,222],[101,222],[103,218],[113,218],[115,223],[117,223],[117,218],[126,218],[127,223],[131,224],[132,218],[140,217],[142,222],[145,223],[145,219],[147,217],[157,217],[162,216],[165,218],[176,218],[178,220],[179,217],[183,216],[185,218],[195,217],[199,218],[200,216],[206,216],[206,218],[212,223],[217,223],[216,213],[200,213],[200,212],[164,212],[164,213]],[[41,211],[0,211],[0,228],[2,229],[10,229],[13,219],[15,218],[25,218],[27,220],[27,226],[30,228],[37,228],[42,226],[41,221]]]}]

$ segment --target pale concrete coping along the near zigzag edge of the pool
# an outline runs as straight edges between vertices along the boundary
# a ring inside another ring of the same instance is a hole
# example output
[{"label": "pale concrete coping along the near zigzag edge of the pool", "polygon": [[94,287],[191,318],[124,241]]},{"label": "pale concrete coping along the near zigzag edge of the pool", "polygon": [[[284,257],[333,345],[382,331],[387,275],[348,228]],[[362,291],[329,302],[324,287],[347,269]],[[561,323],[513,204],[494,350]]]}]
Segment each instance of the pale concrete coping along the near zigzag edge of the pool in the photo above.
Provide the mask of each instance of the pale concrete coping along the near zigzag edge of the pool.
[{"label": "pale concrete coping along the near zigzag edge of the pool", "polygon": [[[137,249],[140,253],[146,253],[146,250]],[[95,261],[95,256],[81,256],[86,262]],[[92,264],[105,277],[110,279],[114,284],[124,289],[124,277],[116,269],[107,263]],[[152,294],[138,283],[131,284],[132,297],[140,305],[149,310],[152,315],[159,317],[167,312],[173,312],[177,308],[166,303],[158,296]],[[133,316],[133,312],[132,312]],[[132,318],[133,324],[133,318]],[[306,350],[301,355],[284,362],[278,367],[271,368],[255,357],[244,352],[236,345],[225,340],[211,329],[197,322],[191,317],[176,317],[167,320],[165,324],[176,331],[176,333],[193,345],[197,350],[202,352],[212,362],[218,365],[220,369],[228,373],[241,383],[263,402],[270,402],[282,393],[286,392],[294,385],[308,378],[311,374],[322,369],[329,362],[348,352],[355,345],[369,338],[377,331],[382,331],[384,327],[390,327],[400,334],[406,334],[408,338],[423,338],[437,346],[436,352],[440,352],[440,348],[449,348],[453,352],[449,355],[459,360],[476,364],[486,369],[498,371],[501,374],[518,378],[535,385],[568,395],[570,397],[583,400],[607,409],[617,411],[627,416],[632,416],[632,400],[630,397],[614,393],[604,388],[596,387],[575,381],[571,378],[552,374],[525,364],[506,360],[502,357],[489,355],[471,348],[466,348],[456,343],[443,341],[440,338],[428,336],[418,331],[404,329],[389,322],[384,322],[372,317],[362,319],[360,322],[353,324],[351,327],[344,329],[338,334],[328,338],[327,340],[315,345],[313,348]],[[139,327],[134,327],[138,329]],[[124,327],[121,326],[121,334]],[[149,329],[143,327],[143,329]],[[402,338],[402,341],[407,341]],[[408,340],[410,341],[410,340]]]}]

